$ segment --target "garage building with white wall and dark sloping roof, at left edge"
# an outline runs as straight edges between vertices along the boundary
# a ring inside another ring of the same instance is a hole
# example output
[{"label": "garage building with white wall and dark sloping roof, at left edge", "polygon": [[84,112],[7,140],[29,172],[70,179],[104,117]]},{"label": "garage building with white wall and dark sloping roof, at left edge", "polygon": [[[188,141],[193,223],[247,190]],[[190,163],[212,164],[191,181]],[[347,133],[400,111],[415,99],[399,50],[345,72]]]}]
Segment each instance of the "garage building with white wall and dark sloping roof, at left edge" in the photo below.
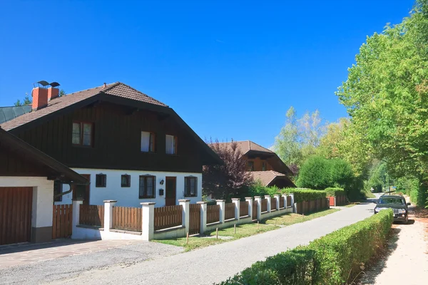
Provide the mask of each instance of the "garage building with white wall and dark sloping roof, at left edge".
[{"label": "garage building with white wall and dark sloping roof, at left edge", "polygon": [[76,185],[86,178],[1,128],[0,157],[0,245],[48,242],[54,181]]}]

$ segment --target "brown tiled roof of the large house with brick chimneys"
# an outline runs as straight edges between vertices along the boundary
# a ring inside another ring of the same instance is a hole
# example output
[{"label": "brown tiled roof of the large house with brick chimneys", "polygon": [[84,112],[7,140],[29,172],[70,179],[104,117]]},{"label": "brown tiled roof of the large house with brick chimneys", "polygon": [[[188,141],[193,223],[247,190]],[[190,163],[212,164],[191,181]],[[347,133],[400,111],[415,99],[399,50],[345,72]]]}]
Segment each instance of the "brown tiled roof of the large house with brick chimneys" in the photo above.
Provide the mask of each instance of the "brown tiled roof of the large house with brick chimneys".
[{"label": "brown tiled roof of the large house with brick chimneys", "polygon": [[75,93],[68,94],[66,96],[61,96],[49,101],[48,105],[45,108],[40,110],[31,111],[30,113],[26,113],[21,115],[13,120],[9,120],[3,124],[1,124],[1,128],[4,130],[11,130],[20,125],[24,125],[33,120],[39,119],[45,115],[49,115],[51,113],[56,112],[57,110],[61,110],[68,106],[71,106],[75,103],[80,102],[81,100],[85,100],[92,96],[98,95],[99,93],[105,93],[108,95],[114,95],[122,98],[128,98],[132,100],[138,100],[145,103],[150,103],[154,105],[160,105],[163,107],[168,107],[164,103],[151,98],[150,96],[141,93],[140,91],[127,86],[121,82],[107,84],[106,86],[98,86],[96,88],[91,88],[87,90],[78,91]]}]

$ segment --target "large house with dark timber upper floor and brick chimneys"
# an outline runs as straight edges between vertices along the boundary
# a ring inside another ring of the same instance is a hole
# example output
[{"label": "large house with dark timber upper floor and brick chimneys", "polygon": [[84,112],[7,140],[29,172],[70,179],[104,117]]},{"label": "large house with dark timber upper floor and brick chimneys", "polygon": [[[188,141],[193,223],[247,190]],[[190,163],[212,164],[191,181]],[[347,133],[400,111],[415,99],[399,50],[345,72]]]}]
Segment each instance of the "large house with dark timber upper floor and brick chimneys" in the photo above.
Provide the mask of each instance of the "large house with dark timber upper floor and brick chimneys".
[{"label": "large house with dark timber upper floor and brick chimneys", "polygon": [[64,96],[57,86],[40,81],[31,111],[0,123],[89,181],[70,192],[55,180],[55,204],[115,199],[118,206],[163,207],[202,199],[203,165],[223,162],[172,108],[120,82]]}]

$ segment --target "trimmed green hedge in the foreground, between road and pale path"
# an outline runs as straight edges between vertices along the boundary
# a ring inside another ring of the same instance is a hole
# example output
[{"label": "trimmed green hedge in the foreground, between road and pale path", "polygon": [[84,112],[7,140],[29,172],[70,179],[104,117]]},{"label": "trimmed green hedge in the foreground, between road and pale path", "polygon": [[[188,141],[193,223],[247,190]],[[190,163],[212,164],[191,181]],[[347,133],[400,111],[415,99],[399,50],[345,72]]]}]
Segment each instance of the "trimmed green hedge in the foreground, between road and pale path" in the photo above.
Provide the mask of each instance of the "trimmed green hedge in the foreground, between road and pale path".
[{"label": "trimmed green hedge in the foreground, between road and pale path", "polygon": [[382,210],[305,247],[258,261],[221,284],[340,285],[352,281],[360,265],[386,241],[393,219],[392,209]]}]

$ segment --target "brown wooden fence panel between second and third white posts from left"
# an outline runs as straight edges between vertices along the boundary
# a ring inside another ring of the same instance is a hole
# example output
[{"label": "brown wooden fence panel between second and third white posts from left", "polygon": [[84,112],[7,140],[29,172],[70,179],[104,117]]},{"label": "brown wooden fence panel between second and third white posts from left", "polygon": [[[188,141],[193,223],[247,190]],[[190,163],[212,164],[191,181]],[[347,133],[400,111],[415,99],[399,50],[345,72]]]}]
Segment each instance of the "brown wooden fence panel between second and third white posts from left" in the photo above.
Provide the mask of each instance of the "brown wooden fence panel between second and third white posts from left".
[{"label": "brown wooden fence panel between second and third white posts from left", "polygon": [[113,229],[141,232],[143,229],[143,209],[113,206]]}]

